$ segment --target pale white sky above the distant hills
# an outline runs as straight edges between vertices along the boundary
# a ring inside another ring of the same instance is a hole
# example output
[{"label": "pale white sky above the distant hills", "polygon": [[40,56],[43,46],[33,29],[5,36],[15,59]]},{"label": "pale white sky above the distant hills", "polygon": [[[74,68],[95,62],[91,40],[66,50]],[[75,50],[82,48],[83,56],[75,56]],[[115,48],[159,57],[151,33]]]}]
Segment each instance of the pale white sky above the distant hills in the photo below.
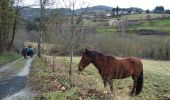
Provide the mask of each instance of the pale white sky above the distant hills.
[{"label": "pale white sky above the distant hills", "polygon": [[[59,0],[54,0],[54,1],[59,1]],[[63,0],[60,0],[60,3],[62,1]],[[144,10],[146,9],[153,10],[156,6],[164,6],[165,9],[170,9],[170,0],[77,0],[77,1],[88,2],[88,4],[90,4],[91,6],[106,5],[110,7],[119,6],[120,8],[139,7]],[[37,2],[37,0],[24,0],[24,4],[26,5],[30,5],[35,2]],[[77,3],[76,8],[80,8],[80,3]]]}]

